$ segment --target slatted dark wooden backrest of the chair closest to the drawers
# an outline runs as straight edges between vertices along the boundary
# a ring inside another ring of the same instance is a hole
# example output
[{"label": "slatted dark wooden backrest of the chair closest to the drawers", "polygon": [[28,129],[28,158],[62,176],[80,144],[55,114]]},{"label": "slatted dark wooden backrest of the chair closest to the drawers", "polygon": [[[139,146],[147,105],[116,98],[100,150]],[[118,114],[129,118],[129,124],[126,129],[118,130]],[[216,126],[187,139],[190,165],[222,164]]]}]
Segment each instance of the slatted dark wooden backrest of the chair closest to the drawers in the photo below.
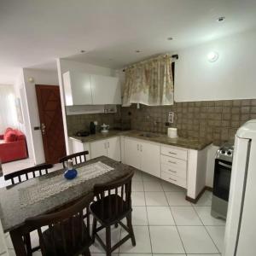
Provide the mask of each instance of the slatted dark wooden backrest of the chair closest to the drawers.
[{"label": "slatted dark wooden backrest of the chair closest to the drawers", "polygon": [[100,203],[100,215],[104,219],[118,218],[131,210],[131,179],[134,171],[113,182],[96,184],[94,195]]}]

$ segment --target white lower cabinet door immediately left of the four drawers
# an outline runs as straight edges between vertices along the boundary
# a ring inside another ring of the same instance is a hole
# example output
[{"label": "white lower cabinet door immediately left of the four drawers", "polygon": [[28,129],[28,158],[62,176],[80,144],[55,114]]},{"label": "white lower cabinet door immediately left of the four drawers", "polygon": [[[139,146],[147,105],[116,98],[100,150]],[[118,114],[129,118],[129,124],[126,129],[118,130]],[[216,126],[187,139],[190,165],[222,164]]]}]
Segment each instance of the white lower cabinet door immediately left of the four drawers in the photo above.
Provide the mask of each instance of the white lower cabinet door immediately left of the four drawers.
[{"label": "white lower cabinet door immediately left of the four drawers", "polygon": [[151,143],[141,143],[142,171],[160,177],[160,146]]}]

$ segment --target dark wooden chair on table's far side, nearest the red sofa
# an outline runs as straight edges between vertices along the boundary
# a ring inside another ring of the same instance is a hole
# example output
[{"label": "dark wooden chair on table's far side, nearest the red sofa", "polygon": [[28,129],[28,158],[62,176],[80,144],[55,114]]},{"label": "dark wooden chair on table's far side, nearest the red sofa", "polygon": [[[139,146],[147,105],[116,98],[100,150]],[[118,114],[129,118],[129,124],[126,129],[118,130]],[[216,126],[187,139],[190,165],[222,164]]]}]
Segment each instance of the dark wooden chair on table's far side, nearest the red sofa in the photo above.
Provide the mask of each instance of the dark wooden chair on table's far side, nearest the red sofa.
[{"label": "dark wooden chair on table's far side, nearest the red sofa", "polygon": [[[4,180],[11,180],[12,184],[24,182],[33,177],[39,177],[44,174],[48,174],[48,169],[52,168],[51,164],[43,164],[38,166],[32,166],[17,172],[13,172],[7,175],[4,175]],[[30,177],[29,177],[30,176]],[[26,243],[26,252],[28,256],[32,256],[32,253],[37,251],[39,247],[33,247],[31,244],[30,234],[24,236],[24,241]]]}]

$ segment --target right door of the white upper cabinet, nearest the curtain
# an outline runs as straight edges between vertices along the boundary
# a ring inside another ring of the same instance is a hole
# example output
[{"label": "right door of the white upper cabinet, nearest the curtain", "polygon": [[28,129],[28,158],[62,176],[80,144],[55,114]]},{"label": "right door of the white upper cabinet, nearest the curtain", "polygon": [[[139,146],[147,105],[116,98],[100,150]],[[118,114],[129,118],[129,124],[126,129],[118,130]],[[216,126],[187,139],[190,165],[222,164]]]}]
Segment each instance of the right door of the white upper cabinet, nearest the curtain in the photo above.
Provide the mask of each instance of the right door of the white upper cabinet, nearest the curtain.
[{"label": "right door of the white upper cabinet, nearest the curtain", "polygon": [[121,90],[119,79],[108,76],[90,75],[92,103],[121,104]]}]

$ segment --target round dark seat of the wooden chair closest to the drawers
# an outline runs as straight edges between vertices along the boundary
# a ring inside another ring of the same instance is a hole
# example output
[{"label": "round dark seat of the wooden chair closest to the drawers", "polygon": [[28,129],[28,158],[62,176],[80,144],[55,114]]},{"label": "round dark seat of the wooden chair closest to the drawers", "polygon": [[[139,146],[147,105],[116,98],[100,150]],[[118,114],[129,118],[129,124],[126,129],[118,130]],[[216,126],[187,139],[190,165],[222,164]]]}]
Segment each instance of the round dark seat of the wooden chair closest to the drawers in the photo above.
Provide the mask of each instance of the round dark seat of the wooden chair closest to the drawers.
[{"label": "round dark seat of the wooden chair closest to the drawers", "polygon": [[[102,204],[104,211],[102,211]],[[109,207],[111,211],[108,211]],[[119,195],[108,195],[104,199],[90,204],[90,212],[105,224],[124,218],[129,211],[131,208],[125,207],[125,201]],[[109,214],[109,212],[111,213]],[[115,212],[118,214],[114,214]]]}]

